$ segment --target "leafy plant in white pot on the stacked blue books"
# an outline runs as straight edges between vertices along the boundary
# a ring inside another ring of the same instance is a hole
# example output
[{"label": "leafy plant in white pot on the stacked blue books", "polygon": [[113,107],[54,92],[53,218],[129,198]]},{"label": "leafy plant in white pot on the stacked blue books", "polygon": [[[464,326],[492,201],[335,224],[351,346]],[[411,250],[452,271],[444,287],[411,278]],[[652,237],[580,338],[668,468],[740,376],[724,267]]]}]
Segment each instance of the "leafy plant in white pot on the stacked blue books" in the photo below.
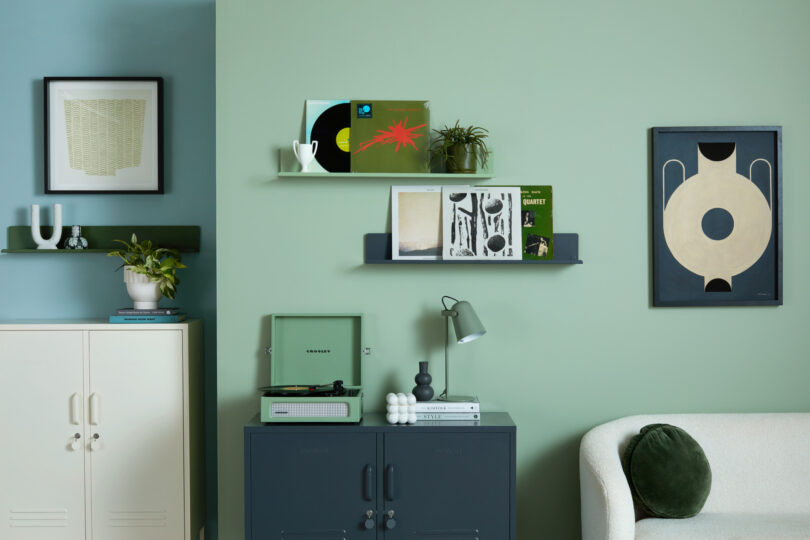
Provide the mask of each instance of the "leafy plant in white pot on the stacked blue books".
[{"label": "leafy plant in white pot on the stacked blue books", "polygon": [[124,283],[135,309],[155,309],[161,296],[174,298],[180,283],[177,269],[186,268],[180,252],[152,245],[151,240],[138,242],[135,234],[129,242],[115,241],[126,249],[110,251],[107,256],[124,261],[118,268],[124,268]]}]

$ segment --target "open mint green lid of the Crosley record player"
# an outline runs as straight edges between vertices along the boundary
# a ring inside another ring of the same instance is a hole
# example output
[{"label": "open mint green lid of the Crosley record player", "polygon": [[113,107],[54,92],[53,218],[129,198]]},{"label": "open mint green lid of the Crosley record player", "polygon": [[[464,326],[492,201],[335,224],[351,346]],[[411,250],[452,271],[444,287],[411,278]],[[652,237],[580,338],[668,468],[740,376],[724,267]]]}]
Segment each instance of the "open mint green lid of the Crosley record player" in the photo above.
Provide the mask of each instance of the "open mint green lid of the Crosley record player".
[{"label": "open mint green lid of the Crosley record player", "polygon": [[270,384],[343,380],[361,386],[363,316],[277,314],[270,321]]}]

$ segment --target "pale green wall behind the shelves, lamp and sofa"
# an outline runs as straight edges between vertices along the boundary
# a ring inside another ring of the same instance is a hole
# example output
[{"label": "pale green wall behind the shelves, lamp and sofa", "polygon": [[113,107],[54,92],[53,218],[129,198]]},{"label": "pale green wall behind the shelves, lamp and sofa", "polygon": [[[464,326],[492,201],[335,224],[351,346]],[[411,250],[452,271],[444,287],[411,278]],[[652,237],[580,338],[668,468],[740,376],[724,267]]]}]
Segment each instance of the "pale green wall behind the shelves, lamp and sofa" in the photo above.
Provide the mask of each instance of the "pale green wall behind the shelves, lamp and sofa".
[{"label": "pale green wall behind the shelves, lamp and sofa", "polygon": [[[470,300],[489,333],[453,351],[454,381],[518,425],[524,540],[579,536],[592,426],[810,410],[808,25],[805,0],[219,2],[222,538],[242,537],[242,425],[268,383],[274,312],[365,313],[379,410],[419,360],[441,387],[439,300]],[[489,183],[552,184],[555,228],[580,234],[585,264],[364,266],[392,182],[277,177],[304,100],[342,97],[430,99],[434,127],[489,128]],[[783,306],[651,307],[648,130],[673,125],[784,126]]]}]

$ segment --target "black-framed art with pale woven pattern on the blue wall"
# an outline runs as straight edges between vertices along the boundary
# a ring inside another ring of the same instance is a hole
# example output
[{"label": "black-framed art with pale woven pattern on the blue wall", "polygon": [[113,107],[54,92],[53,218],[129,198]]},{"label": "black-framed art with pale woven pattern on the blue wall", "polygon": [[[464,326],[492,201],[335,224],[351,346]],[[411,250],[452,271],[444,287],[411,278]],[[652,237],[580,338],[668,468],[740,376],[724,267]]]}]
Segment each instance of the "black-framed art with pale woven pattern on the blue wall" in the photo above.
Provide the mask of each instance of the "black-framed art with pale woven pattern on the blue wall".
[{"label": "black-framed art with pale woven pattern on the blue wall", "polygon": [[163,193],[163,79],[45,77],[45,193]]}]

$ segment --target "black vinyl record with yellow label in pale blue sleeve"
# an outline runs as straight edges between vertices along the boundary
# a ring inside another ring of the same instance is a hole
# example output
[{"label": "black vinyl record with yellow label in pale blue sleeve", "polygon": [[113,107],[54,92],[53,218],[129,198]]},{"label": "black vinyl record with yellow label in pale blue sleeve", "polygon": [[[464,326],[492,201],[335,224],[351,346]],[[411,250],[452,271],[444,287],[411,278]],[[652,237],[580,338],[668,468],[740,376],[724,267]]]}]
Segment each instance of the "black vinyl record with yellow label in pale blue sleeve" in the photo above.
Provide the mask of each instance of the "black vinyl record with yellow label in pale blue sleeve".
[{"label": "black vinyl record with yellow label in pale blue sleeve", "polygon": [[329,172],[349,172],[349,103],[307,100],[307,142],[318,141],[315,161]]}]

